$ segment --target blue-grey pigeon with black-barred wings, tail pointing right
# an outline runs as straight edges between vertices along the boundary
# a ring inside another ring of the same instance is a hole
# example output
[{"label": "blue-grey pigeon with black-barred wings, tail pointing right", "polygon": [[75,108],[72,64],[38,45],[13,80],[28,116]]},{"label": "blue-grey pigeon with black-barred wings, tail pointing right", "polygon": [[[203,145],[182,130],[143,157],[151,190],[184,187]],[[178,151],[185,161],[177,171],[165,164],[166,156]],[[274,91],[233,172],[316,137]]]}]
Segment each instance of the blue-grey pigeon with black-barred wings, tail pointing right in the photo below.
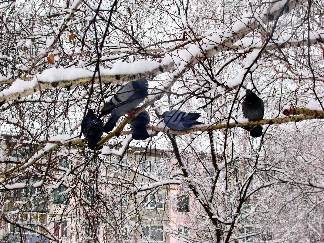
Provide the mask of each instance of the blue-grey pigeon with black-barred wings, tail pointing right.
[{"label": "blue-grey pigeon with black-barred wings, tail pointing right", "polygon": [[200,113],[187,113],[181,110],[169,110],[162,114],[164,123],[171,129],[184,131],[191,128],[193,125],[203,124],[196,121],[201,116]]}]

